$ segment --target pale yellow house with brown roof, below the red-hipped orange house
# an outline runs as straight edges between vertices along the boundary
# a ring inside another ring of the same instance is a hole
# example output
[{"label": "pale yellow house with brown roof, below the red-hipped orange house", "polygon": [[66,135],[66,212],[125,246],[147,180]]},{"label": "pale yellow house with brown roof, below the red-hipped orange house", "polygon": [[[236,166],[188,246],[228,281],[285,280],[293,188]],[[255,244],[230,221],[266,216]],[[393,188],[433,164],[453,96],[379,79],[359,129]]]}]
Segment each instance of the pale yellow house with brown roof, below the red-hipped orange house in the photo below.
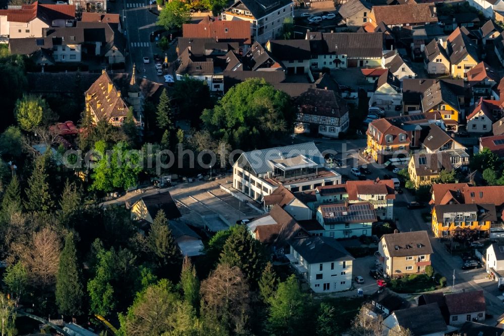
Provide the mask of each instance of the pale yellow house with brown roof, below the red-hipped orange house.
[{"label": "pale yellow house with brown roof, below the red-hipped orange house", "polygon": [[415,188],[436,182],[444,169],[452,170],[450,154],[446,152],[415,154],[408,163],[410,181],[415,184]]}]

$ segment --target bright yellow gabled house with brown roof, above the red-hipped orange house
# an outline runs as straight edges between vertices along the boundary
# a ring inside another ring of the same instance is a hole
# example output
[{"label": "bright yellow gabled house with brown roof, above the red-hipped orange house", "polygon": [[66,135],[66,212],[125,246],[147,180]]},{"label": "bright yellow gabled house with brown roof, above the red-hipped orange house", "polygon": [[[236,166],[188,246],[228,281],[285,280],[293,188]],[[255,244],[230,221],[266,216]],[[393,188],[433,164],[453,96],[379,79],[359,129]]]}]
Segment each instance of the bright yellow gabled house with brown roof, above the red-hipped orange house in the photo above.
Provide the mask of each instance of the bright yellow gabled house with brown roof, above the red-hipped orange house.
[{"label": "bright yellow gabled house with brown roof, above the red-hipped orange house", "polygon": [[460,118],[459,99],[448,83],[437,81],[432,84],[422,94],[421,103],[424,112],[439,112],[448,130],[458,130]]}]

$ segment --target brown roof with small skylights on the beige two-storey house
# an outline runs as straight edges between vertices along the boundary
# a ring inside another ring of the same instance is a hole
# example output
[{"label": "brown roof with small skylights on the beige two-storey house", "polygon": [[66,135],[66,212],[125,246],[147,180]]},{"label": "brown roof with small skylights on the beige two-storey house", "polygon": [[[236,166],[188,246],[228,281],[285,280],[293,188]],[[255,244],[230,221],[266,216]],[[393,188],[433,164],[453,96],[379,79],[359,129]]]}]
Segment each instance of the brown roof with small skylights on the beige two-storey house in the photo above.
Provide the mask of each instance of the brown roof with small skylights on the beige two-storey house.
[{"label": "brown roof with small skylights on the beige two-storey house", "polygon": [[406,257],[410,255],[431,254],[427,231],[401,232],[383,235],[391,257]]}]

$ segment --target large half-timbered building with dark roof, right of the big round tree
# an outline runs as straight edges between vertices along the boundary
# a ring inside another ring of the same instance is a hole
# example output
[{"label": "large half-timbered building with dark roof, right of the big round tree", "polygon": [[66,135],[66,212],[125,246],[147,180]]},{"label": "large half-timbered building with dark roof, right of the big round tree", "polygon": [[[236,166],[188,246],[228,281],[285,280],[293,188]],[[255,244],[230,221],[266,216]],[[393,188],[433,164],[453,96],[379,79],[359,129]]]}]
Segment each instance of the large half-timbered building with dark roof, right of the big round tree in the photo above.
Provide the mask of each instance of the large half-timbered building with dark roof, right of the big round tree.
[{"label": "large half-timbered building with dark roof, right of the big round tree", "polygon": [[348,130],[349,118],[346,101],[335,91],[308,89],[295,101],[297,106],[294,133],[310,133],[338,138]]}]

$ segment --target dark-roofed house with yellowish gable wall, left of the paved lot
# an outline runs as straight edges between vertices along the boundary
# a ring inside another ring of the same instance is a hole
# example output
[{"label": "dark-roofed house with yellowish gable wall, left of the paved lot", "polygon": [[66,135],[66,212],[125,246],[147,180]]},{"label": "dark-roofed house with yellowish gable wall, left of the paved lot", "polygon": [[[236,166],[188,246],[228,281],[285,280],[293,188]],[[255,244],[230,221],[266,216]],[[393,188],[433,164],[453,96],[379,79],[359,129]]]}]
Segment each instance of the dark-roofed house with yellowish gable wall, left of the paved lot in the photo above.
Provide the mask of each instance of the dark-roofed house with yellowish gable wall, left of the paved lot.
[{"label": "dark-roofed house with yellowish gable wall, left of the paved lot", "polygon": [[145,220],[149,223],[154,222],[159,210],[164,211],[167,219],[175,219],[181,216],[168,191],[142,197],[131,205],[127,204],[127,207],[131,207],[131,218],[133,220]]}]

